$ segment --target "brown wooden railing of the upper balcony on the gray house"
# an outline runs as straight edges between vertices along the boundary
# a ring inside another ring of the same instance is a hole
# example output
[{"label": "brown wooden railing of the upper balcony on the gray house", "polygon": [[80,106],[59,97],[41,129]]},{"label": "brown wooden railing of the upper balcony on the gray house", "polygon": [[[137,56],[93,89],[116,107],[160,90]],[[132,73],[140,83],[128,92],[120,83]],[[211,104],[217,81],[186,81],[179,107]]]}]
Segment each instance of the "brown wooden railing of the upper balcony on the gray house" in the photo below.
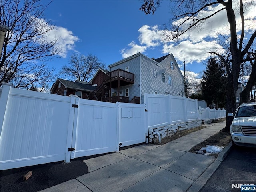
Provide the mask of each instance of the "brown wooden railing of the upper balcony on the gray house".
[{"label": "brown wooden railing of the upper balcony on the gray house", "polygon": [[120,78],[123,80],[133,81],[134,82],[134,74],[128,71],[124,71],[122,69],[117,69],[111,72],[108,72],[103,75],[103,82],[108,80],[113,80],[115,78]]}]

